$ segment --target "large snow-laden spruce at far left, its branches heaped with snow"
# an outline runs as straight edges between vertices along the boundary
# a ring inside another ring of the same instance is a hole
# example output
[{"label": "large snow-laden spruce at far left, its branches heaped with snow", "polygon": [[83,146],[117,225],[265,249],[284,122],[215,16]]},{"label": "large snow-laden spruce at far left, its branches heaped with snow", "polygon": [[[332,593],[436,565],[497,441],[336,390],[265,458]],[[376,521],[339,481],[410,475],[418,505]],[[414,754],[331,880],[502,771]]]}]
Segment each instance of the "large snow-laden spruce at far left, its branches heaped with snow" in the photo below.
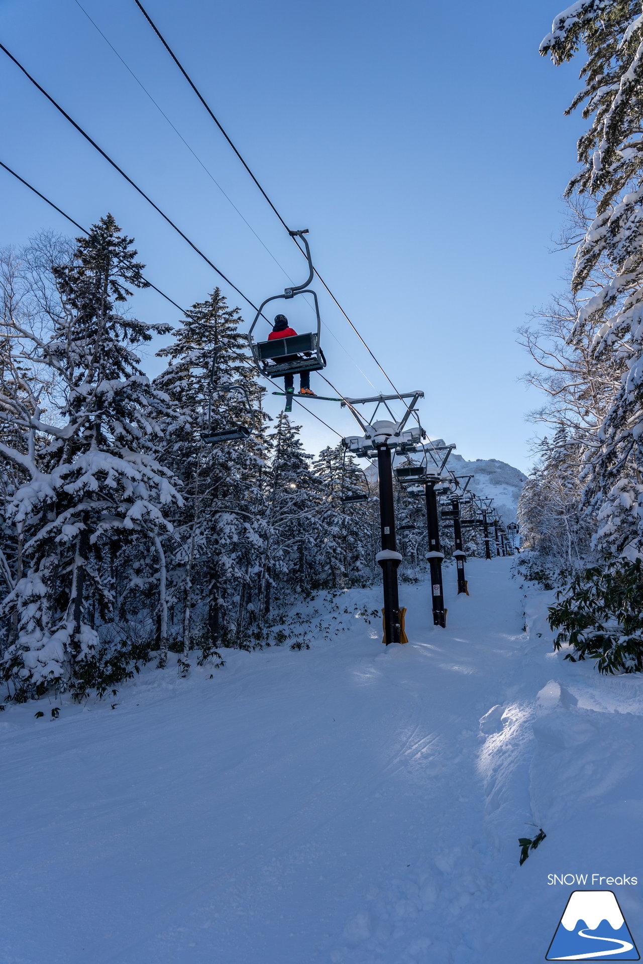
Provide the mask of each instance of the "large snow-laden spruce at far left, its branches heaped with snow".
[{"label": "large snow-laden spruce at far left, its branches heaped with snow", "polygon": [[[117,309],[147,284],[131,244],[107,215],[77,239],[70,261],[51,265],[59,300],[50,336],[12,321],[23,355],[51,373],[59,401],[46,419],[39,405],[33,415],[13,416],[29,434],[26,453],[0,445],[28,476],[9,508],[23,533],[23,575],[3,604],[16,622],[4,666],[18,699],[53,684],[104,689],[126,674],[127,642],[115,652],[99,629],[127,588],[131,572],[120,562],[132,545],[156,560],[161,663],[166,656],[162,537],[171,530],[165,513],[180,496],[154,457],[167,404],[133,349],[167,326]],[[46,440],[38,448],[35,433]]]}]

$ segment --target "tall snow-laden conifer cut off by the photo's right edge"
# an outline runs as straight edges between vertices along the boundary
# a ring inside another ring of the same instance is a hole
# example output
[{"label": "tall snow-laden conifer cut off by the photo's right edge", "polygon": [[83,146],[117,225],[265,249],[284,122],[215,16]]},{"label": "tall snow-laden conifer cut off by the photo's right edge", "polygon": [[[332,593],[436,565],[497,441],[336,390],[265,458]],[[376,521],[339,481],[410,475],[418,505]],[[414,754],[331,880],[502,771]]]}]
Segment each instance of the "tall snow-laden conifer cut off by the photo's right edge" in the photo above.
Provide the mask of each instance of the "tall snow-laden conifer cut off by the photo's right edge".
[{"label": "tall snow-laden conifer cut off by the photo's right edge", "polygon": [[[587,300],[570,335],[591,331],[594,356],[625,368],[616,397],[587,449],[587,496],[604,553],[643,551],[643,16],[641,4],[580,0],[558,14],[541,44],[555,64],[587,54],[570,111],[590,121],[578,141],[580,170],[567,193],[587,195],[596,216],[576,251],[573,289]],[[597,265],[612,277],[588,288]]]}]

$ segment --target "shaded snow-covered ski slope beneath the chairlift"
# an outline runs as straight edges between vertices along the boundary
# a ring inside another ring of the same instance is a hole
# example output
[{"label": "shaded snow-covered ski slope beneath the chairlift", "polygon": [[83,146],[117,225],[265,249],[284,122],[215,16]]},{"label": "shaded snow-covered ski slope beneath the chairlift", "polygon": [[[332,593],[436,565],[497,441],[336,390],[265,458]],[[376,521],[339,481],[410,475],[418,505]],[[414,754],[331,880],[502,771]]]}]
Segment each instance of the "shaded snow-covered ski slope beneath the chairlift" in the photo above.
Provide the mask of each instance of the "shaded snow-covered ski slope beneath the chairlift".
[{"label": "shaded snow-covered ski slope beneath the chairlift", "polygon": [[[643,681],[553,654],[512,566],[470,560],[469,598],[447,569],[445,630],[402,585],[408,646],[344,615],[115,710],[8,707],[2,964],[542,962],[578,889],[548,874],[643,880]],[[609,888],[639,948],[640,888]]]}]

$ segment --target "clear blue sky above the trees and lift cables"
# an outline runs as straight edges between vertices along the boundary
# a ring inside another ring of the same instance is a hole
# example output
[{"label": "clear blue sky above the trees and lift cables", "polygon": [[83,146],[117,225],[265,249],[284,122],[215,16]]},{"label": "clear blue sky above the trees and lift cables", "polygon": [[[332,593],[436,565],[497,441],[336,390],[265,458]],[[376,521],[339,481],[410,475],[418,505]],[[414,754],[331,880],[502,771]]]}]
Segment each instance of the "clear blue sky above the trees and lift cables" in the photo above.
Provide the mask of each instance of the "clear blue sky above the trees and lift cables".
[{"label": "clear blue sky above the trees and lift cables", "polygon": [[[0,0],[3,43],[255,303],[288,283],[284,272],[303,281],[303,258],[133,0],[81,2],[253,230],[76,0]],[[424,390],[429,434],[465,458],[528,469],[535,429],[525,414],[541,399],[519,381],[528,364],[514,332],[564,284],[568,256],[550,254],[550,239],[582,125],[563,117],[580,65],[538,55],[559,0],[144,6],[286,221],[309,228],[320,273],[397,388]],[[6,58],[0,85],[1,160],[81,224],[111,211],[149,280],[178,304],[221,283]],[[1,171],[0,192],[0,244],[69,232]],[[388,390],[320,297],[331,380],[349,396]],[[178,320],[153,292],[135,309]],[[306,306],[286,313],[308,329]],[[144,366],[155,374],[161,360],[151,351]],[[314,375],[311,385],[320,390]],[[267,405],[276,412],[279,400]],[[313,405],[354,433],[338,406]],[[297,420],[309,451],[336,441],[308,415]]]}]

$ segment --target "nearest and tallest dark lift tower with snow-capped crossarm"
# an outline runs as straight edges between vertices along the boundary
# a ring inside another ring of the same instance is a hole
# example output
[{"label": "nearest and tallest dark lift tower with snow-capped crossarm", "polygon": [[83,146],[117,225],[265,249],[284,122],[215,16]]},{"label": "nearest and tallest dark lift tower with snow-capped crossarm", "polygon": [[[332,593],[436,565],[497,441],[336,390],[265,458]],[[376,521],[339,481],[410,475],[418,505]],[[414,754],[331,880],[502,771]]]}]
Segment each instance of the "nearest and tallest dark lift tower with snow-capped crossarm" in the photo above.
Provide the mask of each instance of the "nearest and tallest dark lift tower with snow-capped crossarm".
[{"label": "nearest and tallest dark lift tower with snow-capped crossarm", "polygon": [[[397,568],[402,561],[402,555],[397,551],[395,543],[395,507],[393,502],[393,452],[400,454],[415,452],[417,443],[426,435],[419,425],[405,429],[410,415],[415,412],[418,399],[424,397],[423,391],[407,392],[403,395],[372,395],[369,398],[346,398],[342,407],[347,406],[362,429],[363,435],[347,436],[344,444],[354,455],[365,459],[377,459],[377,470],[380,487],[380,526],[382,534],[382,549],[375,558],[382,567],[384,583],[384,638],[389,643],[406,642],[402,638],[402,621],[397,588]],[[388,407],[388,402],[412,399],[407,405],[406,414],[399,420]],[[356,410],[356,405],[375,403],[375,412],[366,421]],[[381,405],[390,418],[375,420],[375,415]]]}]

